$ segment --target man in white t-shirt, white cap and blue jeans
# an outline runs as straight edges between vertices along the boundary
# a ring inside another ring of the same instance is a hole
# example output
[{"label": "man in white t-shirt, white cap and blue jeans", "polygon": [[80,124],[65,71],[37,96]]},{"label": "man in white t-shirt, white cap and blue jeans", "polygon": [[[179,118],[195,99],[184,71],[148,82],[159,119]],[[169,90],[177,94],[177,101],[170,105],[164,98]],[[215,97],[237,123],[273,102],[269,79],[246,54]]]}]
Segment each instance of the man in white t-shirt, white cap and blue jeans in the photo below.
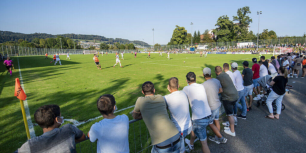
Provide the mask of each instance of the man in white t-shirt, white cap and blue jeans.
[{"label": "man in white t-shirt, white cap and blue jeans", "polygon": [[[234,106],[234,116],[237,118],[242,118],[242,119],[246,119],[246,114],[247,114],[247,105],[245,103],[245,99],[244,99],[244,86],[242,84],[243,79],[241,76],[240,71],[238,71],[238,64],[236,62],[231,63],[231,68],[233,70],[233,74],[234,74],[234,78],[235,78],[235,88],[238,91],[238,99],[236,102],[236,105]],[[240,103],[239,103],[240,102]],[[237,115],[237,108],[239,108],[241,110],[241,114]]]}]

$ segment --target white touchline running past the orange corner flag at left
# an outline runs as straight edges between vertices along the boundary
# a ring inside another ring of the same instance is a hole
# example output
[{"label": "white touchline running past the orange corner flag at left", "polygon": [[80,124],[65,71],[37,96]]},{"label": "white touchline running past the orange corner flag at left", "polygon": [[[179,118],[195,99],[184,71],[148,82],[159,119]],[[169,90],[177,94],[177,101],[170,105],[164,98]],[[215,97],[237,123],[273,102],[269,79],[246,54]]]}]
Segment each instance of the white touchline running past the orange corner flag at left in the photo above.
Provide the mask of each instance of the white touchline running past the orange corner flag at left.
[{"label": "white touchline running past the orange corner flag at left", "polygon": [[[19,77],[20,77],[20,86],[24,90],[24,85],[23,85],[23,81],[22,81],[22,76],[21,76],[21,71],[20,71],[20,66],[19,66],[19,59],[17,57],[17,61],[18,61],[18,69],[19,69]],[[30,110],[29,110],[29,106],[28,106],[28,101],[27,99],[25,99],[24,101],[24,109],[25,109],[25,114],[27,116],[27,121],[28,121],[28,127],[29,127],[29,131],[30,131],[30,136],[31,138],[35,137],[35,131],[34,131],[34,126],[32,124],[32,119],[31,119],[31,115],[30,115]]]}]

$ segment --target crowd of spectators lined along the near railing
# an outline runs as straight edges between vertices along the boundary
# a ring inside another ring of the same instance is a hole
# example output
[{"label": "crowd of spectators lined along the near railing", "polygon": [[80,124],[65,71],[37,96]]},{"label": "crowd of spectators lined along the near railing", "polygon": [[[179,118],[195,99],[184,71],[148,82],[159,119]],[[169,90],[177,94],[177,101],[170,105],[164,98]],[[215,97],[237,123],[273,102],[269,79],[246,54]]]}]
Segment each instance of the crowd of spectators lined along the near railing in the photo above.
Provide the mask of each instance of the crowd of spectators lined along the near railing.
[{"label": "crowd of spectators lined along the near railing", "polygon": [[[303,59],[302,59],[303,58]],[[154,84],[146,81],[142,84],[141,92],[144,96],[136,100],[134,110],[131,112],[134,119],[143,119],[151,136],[151,152],[185,152],[185,143],[190,149],[194,149],[193,143],[200,140],[201,149],[209,153],[207,145],[206,128],[209,126],[215,136],[208,139],[220,144],[227,139],[220,133],[219,110],[223,105],[226,122],[223,122],[224,132],[227,136],[236,136],[235,125],[238,120],[247,119],[247,111],[252,110],[252,100],[259,100],[265,91],[258,83],[260,78],[272,76],[270,85],[272,91],[267,97],[269,113],[265,118],[279,119],[281,114],[282,98],[285,95],[285,87],[288,77],[299,74],[303,68],[305,76],[306,58],[298,53],[281,54],[277,59],[260,60],[252,59],[252,69],[249,62],[244,61],[242,73],[237,70],[238,63],[224,63],[215,66],[216,78],[211,77],[211,68],[203,69],[203,77],[206,80],[202,84],[197,83],[196,74],[186,74],[187,86],[179,89],[177,77],[171,77],[168,81],[168,95],[155,94]],[[232,71],[230,71],[230,69]],[[292,72],[289,73],[290,69]],[[304,77],[303,76],[303,77]],[[302,77],[302,78],[303,78]],[[263,91],[263,94],[261,94]],[[252,98],[252,92],[255,97]],[[249,99],[249,101],[248,101]],[[272,102],[276,100],[277,113],[273,114]],[[222,103],[221,103],[222,102]],[[125,114],[114,115],[117,109],[113,95],[101,95],[97,102],[97,109],[103,119],[91,125],[87,136],[91,142],[97,141],[97,152],[129,152],[129,118]],[[191,108],[191,114],[189,112]],[[241,114],[237,114],[237,109]],[[167,110],[170,112],[170,118]],[[85,140],[85,134],[71,124],[63,123],[60,107],[58,105],[45,105],[39,107],[34,114],[35,122],[43,129],[41,136],[34,137],[24,143],[15,152],[76,152],[76,142]],[[190,134],[190,140],[185,137]]]}]

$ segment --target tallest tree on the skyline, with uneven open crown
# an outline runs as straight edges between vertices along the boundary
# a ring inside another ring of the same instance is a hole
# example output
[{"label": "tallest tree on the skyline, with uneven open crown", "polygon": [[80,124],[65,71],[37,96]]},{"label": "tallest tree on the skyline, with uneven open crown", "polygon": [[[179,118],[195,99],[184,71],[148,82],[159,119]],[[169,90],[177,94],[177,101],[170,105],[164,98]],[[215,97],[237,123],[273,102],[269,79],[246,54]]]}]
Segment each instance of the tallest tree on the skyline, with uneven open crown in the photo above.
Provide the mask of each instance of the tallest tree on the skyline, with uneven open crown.
[{"label": "tallest tree on the skyline, with uneven open crown", "polygon": [[238,21],[236,28],[237,40],[247,40],[248,39],[248,26],[252,23],[252,19],[248,16],[250,14],[250,8],[244,6],[237,10],[237,16],[233,16],[233,21]]}]

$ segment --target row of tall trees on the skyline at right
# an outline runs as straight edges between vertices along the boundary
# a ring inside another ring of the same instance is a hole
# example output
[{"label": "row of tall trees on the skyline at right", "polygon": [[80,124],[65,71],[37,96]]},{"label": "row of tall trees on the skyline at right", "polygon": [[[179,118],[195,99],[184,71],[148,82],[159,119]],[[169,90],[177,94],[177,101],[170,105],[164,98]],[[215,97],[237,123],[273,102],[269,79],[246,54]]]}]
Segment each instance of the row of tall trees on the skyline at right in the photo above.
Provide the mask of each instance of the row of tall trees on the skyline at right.
[{"label": "row of tall trees on the skyline at right", "polygon": [[[202,33],[200,30],[194,32],[193,35],[187,33],[187,30],[184,27],[176,25],[176,28],[173,31],[172,37],[168,45],[176,44],[185,44],[185,43],[211,43],[211,42],[229,42],[229,41],[241,41],[241,40],[254,40],[257,39],[257,35],[252,31],[248,31],[252,19],[248,16],[251,13],[248,6],[239,8],[237,10],[237,16],[233,16],[233,20],[227,15],[223,15],[218,18],[215,28],[213,30],[214,37],[211,38],[211,34],[208,33],[206,29]],[[236,21],[237,23],[234,23]],[[259,34],[259,39],[276,39],[277,35],[274,31],[268,31],[268,29],[263,30]]]}]

